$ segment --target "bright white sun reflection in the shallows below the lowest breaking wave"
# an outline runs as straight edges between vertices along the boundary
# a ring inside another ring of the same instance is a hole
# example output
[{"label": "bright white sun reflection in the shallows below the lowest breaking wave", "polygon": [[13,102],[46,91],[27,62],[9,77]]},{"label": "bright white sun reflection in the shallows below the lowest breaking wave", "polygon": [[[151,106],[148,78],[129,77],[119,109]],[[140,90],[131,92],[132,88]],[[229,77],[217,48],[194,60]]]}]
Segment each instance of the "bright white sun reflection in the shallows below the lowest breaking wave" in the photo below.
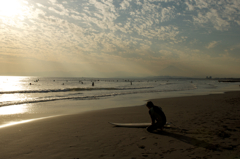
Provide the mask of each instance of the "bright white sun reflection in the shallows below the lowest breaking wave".
[{"label": "bright white sun reflection in the shallows below the lowest breaking wave", "polygon": [[13,105],[0,107],[0,115],[12,115],[12,114],[22,114],[27,112],[27,106],[25,105]]}]

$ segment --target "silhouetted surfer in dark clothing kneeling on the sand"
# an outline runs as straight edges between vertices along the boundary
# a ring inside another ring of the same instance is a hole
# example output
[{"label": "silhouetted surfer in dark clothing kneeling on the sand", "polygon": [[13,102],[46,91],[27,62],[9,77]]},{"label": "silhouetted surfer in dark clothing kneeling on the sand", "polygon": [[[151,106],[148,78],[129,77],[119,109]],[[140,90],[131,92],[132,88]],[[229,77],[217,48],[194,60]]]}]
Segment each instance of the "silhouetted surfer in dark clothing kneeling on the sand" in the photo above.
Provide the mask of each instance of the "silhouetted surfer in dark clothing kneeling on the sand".
[{"label": "silhouetted surfer in dark clothing kneeling on the sand", "polygon": [[151,101],[147,102],[146,106],[149,109],[149,115],[152,119],[152,125],[147,128],[147,131],[153,132],[159,128],[163,130],[163,126],[166,124],[167,119],[162,108],[155,106]]}]

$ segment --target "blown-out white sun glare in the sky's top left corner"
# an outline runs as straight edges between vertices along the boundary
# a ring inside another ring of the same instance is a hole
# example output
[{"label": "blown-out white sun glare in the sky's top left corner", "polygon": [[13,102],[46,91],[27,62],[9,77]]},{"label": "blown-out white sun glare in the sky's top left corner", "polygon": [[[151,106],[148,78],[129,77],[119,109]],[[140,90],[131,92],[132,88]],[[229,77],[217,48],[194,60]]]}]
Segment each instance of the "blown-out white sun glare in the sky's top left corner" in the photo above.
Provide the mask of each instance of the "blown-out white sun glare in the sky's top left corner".
[{"label": "blown-out white sun glare in the sky's top left corner", "polygon": [[21,15],[23,5],[20,0],[0,0],[0,15],[14,17]]}]

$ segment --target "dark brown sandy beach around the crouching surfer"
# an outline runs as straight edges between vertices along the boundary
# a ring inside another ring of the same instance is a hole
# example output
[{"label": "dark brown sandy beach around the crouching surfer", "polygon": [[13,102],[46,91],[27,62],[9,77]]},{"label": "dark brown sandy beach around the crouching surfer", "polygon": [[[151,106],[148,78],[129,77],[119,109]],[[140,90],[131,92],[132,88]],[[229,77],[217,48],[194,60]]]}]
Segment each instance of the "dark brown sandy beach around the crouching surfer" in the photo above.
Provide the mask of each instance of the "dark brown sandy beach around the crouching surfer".
[{"label": "dark brown sandy beach around the crouching surfer", "polygon": [[149,133],[108,123],[150,122],[145,106],[43,119],[1,128],[0,158],[240,159],[240,92],[152,101],[171,128]]}]

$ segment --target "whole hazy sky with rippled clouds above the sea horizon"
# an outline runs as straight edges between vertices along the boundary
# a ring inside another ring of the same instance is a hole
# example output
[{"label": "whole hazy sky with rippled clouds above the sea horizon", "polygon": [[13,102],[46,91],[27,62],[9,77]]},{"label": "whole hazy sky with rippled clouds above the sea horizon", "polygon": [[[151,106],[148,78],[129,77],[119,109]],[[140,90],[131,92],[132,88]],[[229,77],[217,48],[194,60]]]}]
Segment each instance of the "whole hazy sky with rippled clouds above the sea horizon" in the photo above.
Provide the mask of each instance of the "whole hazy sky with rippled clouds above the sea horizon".
[{"label": "whole hazy sky with rippled clouds above the sea horizon", "polygon": [[0,75],[239,77],[239,0],[0,0]]}]

